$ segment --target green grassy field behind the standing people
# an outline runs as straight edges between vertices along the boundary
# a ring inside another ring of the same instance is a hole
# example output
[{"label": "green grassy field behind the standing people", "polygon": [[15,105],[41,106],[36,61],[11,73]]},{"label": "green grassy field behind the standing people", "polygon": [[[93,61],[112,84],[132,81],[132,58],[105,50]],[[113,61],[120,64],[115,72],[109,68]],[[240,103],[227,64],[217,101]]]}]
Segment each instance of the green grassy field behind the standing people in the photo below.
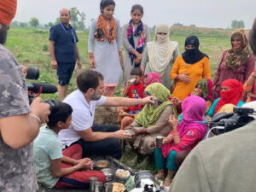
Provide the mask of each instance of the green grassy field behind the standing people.
[{"label": "green grassy field behind the standing people", "polygon": [[[212,75],[214,74],[218,62],[221,59],[224,49],[230,48],[230,31],[219,30],[196,30],[196,28],[173,28],[171,40],[177,41],[179,50],[183,52],[185,38],[189,34],[195,34],[200,38],[200,49],[210,57]],[[88,32],[78,32],[79,51],[83,63],[83,68],[89,68],[88,57]],[[50,67],[49,58],[49,32],[36,29],[11,28],[9,30],[8,42],[6,46],[15,55],[20,64],[26,66],[36,66],[40,68],[39,82],[57,84],[55,70]],[[153,35],[152,37],[153,38]],[[75,77],[79,71],[75,70],[73,79],[70,82],[69,91],[76,89]],[[120,88],[121,86],[119,86]],[[121,90],[116,90],[116,95],[120,95]],[[57,99],[57,94],[44,95],[45,98]]]}]

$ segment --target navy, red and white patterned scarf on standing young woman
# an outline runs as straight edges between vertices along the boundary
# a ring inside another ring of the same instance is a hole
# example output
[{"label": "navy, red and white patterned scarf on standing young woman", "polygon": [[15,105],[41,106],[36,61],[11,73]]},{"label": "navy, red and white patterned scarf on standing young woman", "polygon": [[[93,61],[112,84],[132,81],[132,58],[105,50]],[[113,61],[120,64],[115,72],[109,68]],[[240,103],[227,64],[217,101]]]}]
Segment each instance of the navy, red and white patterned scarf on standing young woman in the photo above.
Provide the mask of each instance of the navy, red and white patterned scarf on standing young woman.
[{"label": "navy, red and white patterned scarf on standing young woman", "polygon": [[[127,38],[129,40],[129,44],[135,49],[134,44],[134,38],[133,36],[137,37],[140,36],[138,42],[137,42],[137,52],[143,53],[144,43],[145,43],[145,30],[143,26],[143,21],[140,21],[139,25],[137,26],[137,29],[134,29],[134,26],[132,24],[132,20],[129,22],[129,26],[127,28]],[[131,58],[131,65],[133,64],[133,60],[136,58],[136,55],[133,55],[131,52],[129,53],[129,56]]]}]

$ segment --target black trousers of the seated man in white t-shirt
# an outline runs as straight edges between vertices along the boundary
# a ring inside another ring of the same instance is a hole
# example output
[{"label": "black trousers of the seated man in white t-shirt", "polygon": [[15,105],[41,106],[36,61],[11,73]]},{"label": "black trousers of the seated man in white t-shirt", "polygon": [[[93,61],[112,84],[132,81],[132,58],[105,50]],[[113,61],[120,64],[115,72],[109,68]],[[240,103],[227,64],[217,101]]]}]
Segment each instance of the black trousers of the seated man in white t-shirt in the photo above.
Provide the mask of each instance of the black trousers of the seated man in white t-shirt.
[{"label": "black trousers of the seated man in white t-shirt", "polygon": [[[117,125],[92,125],[91,130],[93,132],[113,132],[118,131]],[[120,159],[122,156],[122,150],[118,139],[108,138],[98,142],[85,142],[83,138],[73,143],[79,144],[83,148],[83,158],[92,155],[110,155],[116,159]]]}]

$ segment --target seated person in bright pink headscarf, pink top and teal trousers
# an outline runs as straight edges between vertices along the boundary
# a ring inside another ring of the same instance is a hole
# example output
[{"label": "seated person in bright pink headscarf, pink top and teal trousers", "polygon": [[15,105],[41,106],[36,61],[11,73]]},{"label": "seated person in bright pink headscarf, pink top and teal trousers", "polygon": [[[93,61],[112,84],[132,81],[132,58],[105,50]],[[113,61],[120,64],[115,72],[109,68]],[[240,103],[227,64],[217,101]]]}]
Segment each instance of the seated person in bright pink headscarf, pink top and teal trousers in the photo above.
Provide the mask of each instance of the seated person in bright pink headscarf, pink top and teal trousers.
[{"label": "seated person in bright pink headscarf, pink top and teal trousers", "polygon": [[161,148],[155,148],[154,159],[155,166],[158,173],[155,177],[164,177],[164,168],[168,174],[164,186],[169,186],[172,182],[177,166],[175,165],[175,158],[177,154],[188,152],[195,148],[195,145],[207,133],[207,126],[204,124],[203,117],[207,109],[207,103],[200,96],[188,96],[182,102],[183,119],[178,124],[174,115],[170,116],[169,124],[173,129],[170,134],[164,138]]}]

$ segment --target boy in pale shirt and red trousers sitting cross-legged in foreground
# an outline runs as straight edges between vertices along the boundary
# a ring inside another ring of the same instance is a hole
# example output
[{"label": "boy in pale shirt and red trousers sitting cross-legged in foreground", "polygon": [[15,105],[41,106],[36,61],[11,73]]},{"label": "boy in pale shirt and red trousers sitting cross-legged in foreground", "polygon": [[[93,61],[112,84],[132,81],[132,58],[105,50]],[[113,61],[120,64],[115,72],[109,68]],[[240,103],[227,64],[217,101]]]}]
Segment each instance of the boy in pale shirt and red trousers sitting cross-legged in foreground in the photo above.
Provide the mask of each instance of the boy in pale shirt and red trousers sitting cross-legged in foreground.
[{"label": "boy in pale shirt and red trousers sitting cross-legged in foreground", "polygon": [[99,181],[106,182],[102,172],[91,171],[93,166],[90,159],[81,159],[82,148],[78,144],[62,152],[62,143],[57,135],[71,124],[72,112],[67,103],[56,102],[49,114],[49,122],[40,128],[34,141],[38,183],[48,188],[89,188],[89,177],[98,177]]}]

